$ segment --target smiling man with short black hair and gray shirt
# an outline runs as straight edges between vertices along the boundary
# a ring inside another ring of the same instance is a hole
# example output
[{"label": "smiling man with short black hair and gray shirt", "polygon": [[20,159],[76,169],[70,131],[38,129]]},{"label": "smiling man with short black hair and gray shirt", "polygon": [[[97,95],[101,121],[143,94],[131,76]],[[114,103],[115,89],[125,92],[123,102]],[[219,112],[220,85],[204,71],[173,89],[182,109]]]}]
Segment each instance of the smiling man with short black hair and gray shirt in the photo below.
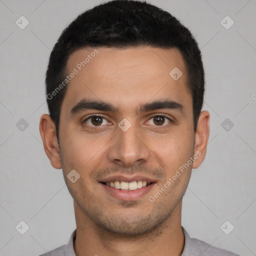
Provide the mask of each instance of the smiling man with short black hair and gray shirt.
[{"label": "smiling man with short black hair and gray shirt", "polygon": [[40,134],[74,199],[76,229],[50,255],[236,255],[181,226],[191,169],[206,153],[203,94],[196,41],[151,4],[109,1],[62,32]]}]

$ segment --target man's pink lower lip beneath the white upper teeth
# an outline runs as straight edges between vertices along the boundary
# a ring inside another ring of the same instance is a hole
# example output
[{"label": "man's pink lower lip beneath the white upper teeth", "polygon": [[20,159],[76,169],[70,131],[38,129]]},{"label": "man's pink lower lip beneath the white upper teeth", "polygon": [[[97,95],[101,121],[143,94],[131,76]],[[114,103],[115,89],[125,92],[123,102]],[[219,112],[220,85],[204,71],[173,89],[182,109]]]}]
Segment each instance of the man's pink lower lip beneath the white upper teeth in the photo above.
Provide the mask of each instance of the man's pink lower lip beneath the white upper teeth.
[{"label": "man's pink lower lip beneath the white upper teeth", "polygon": [[125,200],[125,201],[132,201],[132,200],[137,200],[146,193],[148,193],[152,187],[155,185],[154,183],[151,183],[147,186],[143,186],[141,188],[137,188],[135,190],[121,190],[121,189],[116,189],[111,186],[107,186],[105,184],[100,183],[103,188],[110,193],[113,197],[120,199],[120,200]]}]

